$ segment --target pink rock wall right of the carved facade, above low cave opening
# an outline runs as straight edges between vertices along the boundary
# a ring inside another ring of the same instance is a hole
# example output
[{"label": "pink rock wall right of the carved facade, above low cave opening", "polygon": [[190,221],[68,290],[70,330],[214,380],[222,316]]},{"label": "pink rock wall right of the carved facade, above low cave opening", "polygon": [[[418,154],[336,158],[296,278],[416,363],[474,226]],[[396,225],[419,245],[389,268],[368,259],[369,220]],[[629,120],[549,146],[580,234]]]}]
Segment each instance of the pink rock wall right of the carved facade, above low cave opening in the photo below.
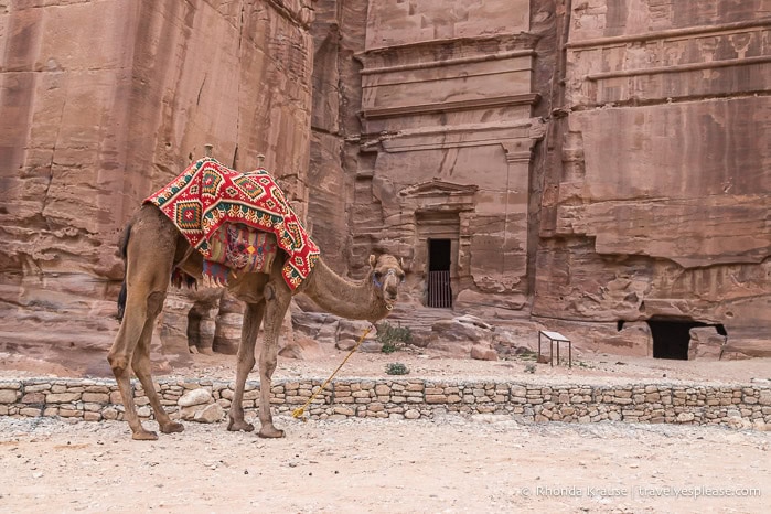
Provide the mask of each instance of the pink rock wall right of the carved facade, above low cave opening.
[{"label": "pink rock wall right of the carved facade, above low cave opening", "polygon": [[771,352],[767,3],[572,3],[534,314],[721,323]]}]

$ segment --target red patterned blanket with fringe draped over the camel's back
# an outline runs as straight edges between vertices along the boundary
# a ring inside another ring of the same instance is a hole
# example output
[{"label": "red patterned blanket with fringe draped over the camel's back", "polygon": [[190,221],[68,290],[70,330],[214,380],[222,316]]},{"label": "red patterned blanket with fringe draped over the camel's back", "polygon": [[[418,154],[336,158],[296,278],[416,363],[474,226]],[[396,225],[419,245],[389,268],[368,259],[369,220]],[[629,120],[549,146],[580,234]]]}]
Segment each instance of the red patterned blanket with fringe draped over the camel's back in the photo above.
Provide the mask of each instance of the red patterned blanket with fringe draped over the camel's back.
[{"label": "red patterned blanket with fringe draped over the camel's back", "polygon": [[[235,269],[256,271],[265,269],[266,259],[270,266],[270,248],[265,247],[264,237],[259,239],[259,232],[275,234],[279,248],[289,256],[282,274],[291,289],[308,278],[319,259],[319,247],[264,169],[240,173],[215,159],[200,159],[144,203],[160,208],[210,261],[210,268],[225,263]],[[239,225],[258,232],[249,235]]]}]

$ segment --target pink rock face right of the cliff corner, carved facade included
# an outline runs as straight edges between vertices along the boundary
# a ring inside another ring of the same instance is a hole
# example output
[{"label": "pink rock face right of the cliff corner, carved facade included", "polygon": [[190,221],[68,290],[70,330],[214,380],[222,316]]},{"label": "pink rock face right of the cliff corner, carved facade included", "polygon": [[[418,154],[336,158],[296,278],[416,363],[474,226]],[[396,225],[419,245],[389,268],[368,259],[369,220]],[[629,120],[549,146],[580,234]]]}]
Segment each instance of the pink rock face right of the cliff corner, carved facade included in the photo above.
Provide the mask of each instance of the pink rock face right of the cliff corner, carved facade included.
[{"label": "pink rock face right of the cliff corner, carved facade included", "polygon": [[650,354],[617,323],[664,317],[771,352],[768,2],[366,3],[319,2],[314,32],[334,186],[310,212],[347,219],[354,274],[394,251],[425,304],[449,238],[462,310],[597,350]]}]

